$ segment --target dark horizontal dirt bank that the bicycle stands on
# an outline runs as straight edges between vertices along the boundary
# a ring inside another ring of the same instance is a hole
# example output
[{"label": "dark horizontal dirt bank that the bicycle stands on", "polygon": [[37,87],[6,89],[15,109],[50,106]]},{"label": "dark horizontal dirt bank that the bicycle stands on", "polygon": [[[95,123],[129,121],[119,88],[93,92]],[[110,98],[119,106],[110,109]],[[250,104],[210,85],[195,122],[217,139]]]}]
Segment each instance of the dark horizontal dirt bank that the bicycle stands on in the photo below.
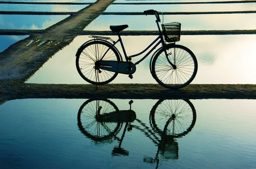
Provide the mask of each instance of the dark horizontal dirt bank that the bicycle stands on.
[{"label": "dark horizontal dirt bank that the bicycle stands on", "polygon": [[256,99],[256,85],[190,84],[173,90],[158,84],[67,85],[0,81],[0,104],[14,99]]}]

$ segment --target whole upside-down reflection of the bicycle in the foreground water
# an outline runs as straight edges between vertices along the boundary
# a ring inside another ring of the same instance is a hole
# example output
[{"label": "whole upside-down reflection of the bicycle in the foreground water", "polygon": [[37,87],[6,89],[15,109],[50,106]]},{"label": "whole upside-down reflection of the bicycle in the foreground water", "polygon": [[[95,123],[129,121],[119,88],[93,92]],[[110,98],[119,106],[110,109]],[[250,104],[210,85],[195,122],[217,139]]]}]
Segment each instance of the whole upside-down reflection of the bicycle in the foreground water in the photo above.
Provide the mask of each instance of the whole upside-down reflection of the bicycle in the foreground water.
[{"label": "whole upside-down reflection of the bicycle in the foreground water", "polygon": [[[131,110],[133,101],[129,101],[129,110],[119,110],[108,99],[87,100],[81,105],[78,112],[79,130],[88,138],[98,142],[111,143],[119,141],[119,145],[112,150],[112,155],[129,155],[129,151],[121,147],[126,131],[133,128],[140,130],[157,146],[154,158],[144,157],[147,163],[157,163],[163,159],[178,159],[178,143],[176,138],[181,138],[189,133],[195,125],[196,111],[189,100],[159,100],[152,107],[149,114],[150,127],[137,118]],[[138,124],[133,124],[137,121]],[[116,135],[125,124],[121,138]]]}]

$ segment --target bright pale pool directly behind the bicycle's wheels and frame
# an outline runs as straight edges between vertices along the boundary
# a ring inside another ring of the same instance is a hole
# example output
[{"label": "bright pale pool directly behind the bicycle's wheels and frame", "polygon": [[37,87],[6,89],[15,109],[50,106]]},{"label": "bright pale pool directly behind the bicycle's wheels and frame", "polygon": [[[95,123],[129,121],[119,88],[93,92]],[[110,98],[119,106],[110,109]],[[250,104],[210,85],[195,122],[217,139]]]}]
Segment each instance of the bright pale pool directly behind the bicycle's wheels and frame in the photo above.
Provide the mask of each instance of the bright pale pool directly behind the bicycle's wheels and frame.
[{"label": "bright pale pool directly behind the bicycle's wheels and frame", "polygon": [[[116,36],[109,36],[116,40]],[[147,47],[155,36],[124,36],[128,55],[136,54]],[[194,84],[256,84],[256,35],[208,35],[181,36],[177,44],[193,51],[198,59],[198,73]],[[76,70],[76,51],[88,36],[79,36],[55,54],[27,82],[54,84],[87,84]],[[121,49],[119,47],[119,49]],[[142,56],[132,59],[136,62]],[[150,56],[137,65],[134,78],[119,74],[111,83],[157,83],[149,71]]]}]

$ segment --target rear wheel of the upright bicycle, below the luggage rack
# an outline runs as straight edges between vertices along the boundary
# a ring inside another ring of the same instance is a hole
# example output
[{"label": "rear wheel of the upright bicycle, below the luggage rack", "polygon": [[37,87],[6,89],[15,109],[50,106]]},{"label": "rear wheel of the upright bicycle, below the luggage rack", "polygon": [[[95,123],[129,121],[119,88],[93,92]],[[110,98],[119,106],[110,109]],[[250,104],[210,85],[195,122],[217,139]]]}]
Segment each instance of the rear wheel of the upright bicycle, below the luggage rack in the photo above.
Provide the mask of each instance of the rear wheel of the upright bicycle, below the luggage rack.
[{"label": "rear wheel of the upright bicycle, below the luggage rack", "polygon": [[[102,57],[104,58],[102,59]],[[92,41],[84,45],[76,56],[76,69],[80,76],[93,85],[105,85],[116,78],[116,72],[99,70],[95,62],[120,61],[119,54],[110,44],[103,41]]]}]

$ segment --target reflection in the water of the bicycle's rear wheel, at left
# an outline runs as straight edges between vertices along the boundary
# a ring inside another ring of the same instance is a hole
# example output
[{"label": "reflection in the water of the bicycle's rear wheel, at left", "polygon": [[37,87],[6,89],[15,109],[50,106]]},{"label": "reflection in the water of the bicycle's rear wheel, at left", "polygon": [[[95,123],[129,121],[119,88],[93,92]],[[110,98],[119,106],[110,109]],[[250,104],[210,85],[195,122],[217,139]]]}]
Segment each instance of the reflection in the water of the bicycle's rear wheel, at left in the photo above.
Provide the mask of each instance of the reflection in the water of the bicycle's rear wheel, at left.
[{"label": "reflection in the water of the bicycle's rear wheel, at left", "polygon": [[96,118],[118,111],[116,105],[108,99],[87,100],[81,105],[77,115],[79,130],[95,141],[107,141],[116,135],[120,122],[102,122]]}]

